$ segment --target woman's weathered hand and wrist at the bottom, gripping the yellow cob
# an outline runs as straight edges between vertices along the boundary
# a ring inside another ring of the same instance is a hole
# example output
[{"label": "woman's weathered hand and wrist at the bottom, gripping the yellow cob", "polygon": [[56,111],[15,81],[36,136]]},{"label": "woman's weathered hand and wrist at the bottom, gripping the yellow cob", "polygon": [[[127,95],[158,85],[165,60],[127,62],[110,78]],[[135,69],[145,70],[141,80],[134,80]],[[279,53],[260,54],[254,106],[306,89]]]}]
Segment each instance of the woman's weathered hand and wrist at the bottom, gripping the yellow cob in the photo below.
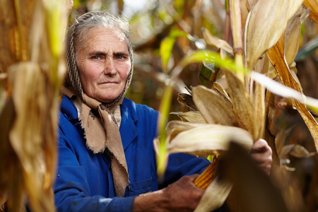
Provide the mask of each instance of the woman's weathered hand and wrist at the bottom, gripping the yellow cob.
[{"label": "woman's weathered hand and wrist at the bottom, gripping the yellow cob", "polygon": [[198,176],[184,176],[165,189],[137,196],[134,211],[194,211],[205,191],[193,184]]}]

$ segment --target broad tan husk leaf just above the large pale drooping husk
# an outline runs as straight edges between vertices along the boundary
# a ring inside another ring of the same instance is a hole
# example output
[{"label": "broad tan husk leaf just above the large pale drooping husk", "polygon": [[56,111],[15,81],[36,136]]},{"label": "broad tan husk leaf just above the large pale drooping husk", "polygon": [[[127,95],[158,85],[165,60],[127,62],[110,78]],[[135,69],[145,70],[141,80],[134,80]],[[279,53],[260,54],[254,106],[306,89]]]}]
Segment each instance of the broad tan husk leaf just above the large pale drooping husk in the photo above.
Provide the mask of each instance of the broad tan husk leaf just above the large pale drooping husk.
[{"label": "broad tan husk leaf just above the large pale drooping husk", "polygon": [[192,89],[192,96],[196,108],[209,124],[236,125],[232,105],[216,91],[204,86],[196,86]]}]

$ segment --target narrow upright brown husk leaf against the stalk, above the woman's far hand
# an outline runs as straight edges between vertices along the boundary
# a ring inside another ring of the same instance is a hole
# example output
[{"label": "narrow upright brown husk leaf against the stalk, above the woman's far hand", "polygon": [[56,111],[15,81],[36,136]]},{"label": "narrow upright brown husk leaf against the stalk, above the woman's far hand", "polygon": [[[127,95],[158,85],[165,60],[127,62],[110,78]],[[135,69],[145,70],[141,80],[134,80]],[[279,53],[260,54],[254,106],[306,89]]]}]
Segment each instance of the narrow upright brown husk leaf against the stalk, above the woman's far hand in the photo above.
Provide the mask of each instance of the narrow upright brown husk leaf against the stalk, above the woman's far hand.
[{"label": "narrow upright brown husk leaf against the stalk, above the woman's far hand", "polygon": [[[232,107],[239,126],[249,131],[256,141],[259,133],[257,132],[257,122],[254,115],[254,108],[249,98],[249,94],[245,90],[245,86],[235,73],[225,71],[225,77],[228,81],[228,93],[232,98]],[[204,115],[204,113],[202,113]]]}]

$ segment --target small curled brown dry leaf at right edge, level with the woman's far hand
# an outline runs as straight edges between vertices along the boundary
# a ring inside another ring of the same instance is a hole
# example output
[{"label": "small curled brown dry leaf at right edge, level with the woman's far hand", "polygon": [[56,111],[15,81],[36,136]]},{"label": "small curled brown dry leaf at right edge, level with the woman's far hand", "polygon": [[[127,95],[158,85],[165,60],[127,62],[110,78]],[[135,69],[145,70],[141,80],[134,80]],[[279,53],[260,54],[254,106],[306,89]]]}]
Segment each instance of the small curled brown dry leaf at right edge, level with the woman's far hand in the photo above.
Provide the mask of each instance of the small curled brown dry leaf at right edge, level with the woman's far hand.
[{"label": "small curled brown dry leaf at right edge, level with the woman's far hand", "polygon": [[309,158],[317,153],[310,153],[307,149],[299,144],[289,144],[283,146],[280,158],[288,158],[288,155],[291,155],[295,158]]}]

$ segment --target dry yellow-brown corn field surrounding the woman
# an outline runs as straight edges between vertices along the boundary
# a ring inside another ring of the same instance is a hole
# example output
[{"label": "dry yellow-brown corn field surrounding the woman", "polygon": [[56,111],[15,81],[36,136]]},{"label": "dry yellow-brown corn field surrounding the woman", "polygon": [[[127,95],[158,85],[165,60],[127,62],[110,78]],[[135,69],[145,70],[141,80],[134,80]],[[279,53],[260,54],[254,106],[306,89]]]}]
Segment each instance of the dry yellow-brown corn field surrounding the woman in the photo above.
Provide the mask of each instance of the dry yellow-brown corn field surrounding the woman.
[{"label": "dry yellow-brown corn field surrounding the woman", "polygon": [[[164,114],[158,175],[170,153],[213,161],[196,211],[318,211],[318,1],[142,2],[0,0],[1,211],[54,211],[63,40],[93,10],[131,23],[126,98]],[[257,139],[269,176],[248,155]]]}]

